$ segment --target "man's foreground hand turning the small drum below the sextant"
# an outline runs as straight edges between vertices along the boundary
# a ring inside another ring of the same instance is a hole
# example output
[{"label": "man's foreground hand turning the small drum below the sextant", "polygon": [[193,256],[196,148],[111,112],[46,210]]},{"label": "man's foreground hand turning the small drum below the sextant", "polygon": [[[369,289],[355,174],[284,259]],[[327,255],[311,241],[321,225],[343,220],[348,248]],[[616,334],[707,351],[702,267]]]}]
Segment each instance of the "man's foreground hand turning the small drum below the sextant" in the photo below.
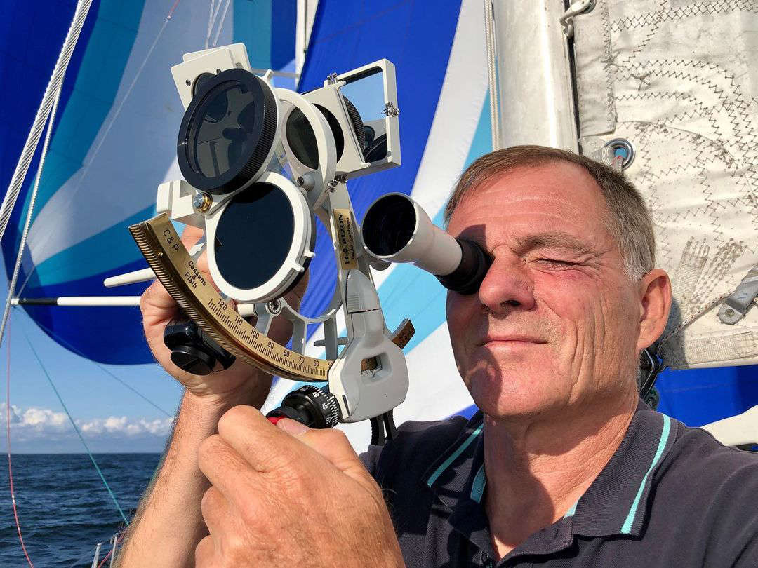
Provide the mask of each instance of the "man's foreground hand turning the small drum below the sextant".
[{"label": "man's foreground hand turning the small drum below the sextant", "polygon": [[200,446],[212,486],[196,566],[403,566],[381,491],[339,430],[228,410]]}]

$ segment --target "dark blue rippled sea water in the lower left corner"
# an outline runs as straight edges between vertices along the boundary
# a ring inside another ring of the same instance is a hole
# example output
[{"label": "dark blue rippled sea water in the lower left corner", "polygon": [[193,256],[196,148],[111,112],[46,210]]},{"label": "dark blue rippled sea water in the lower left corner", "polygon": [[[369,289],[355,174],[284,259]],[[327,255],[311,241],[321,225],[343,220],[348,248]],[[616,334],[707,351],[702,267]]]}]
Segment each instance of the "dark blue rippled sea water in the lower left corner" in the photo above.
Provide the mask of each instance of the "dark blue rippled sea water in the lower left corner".
[{"label": "dark blue rippled sea water in the lower left corner", "polygon": [[[160,454],[95,454],[128,520],[134,515]],[[18,540],[8,485],[8,457],[0,457],[0,566],[28,566]],[[87,454],[14,454],[18,520],[33,566],[91,566],[124,520]],[[103,566],[108,566],[110,558]]]}]

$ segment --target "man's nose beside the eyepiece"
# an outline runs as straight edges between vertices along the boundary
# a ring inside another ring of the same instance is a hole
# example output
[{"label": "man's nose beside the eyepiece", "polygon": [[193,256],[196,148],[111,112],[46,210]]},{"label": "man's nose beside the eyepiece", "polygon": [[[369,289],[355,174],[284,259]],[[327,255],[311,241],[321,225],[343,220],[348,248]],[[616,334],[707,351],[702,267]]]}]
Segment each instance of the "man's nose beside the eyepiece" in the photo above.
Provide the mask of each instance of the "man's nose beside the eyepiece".
[{"label": "man's nose beside the eyepiece", "polygon": [[518,257],[497,255],[479,286],[482,307],[494,314],[534,307],[534,282]]}]

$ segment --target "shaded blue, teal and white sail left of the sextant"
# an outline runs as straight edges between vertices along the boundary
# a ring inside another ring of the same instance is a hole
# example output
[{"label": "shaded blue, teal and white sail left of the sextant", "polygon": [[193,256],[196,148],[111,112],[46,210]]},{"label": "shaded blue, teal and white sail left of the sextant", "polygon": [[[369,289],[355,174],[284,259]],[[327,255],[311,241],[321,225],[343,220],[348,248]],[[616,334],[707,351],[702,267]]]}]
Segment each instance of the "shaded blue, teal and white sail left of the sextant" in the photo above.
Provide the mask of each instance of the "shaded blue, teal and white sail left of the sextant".
[{"label": "shaded blue, teal and white sail left of the sextant", "polygon": [[[309,4],[309,2],[305,2]],[[312,2],[310,2],[312,4]],[[11,2],[0,23],[0,182],[8,186],[76,2]],[[244,42],[252,67],[294,71],[297,2],[95,0],[64,81],[17,295],[139,295],[106,276],[146,266],[127,226],[155,214],[177,179],[183,108],[171,66],[188,51]],[[293,88],[294,80],[277,78]],[[40,148],[42,144],[40,143]],[[10,278],[36,162],[2,242]],[[152,362],[136,307],[25,306],[56,342],[111,364]]]}]

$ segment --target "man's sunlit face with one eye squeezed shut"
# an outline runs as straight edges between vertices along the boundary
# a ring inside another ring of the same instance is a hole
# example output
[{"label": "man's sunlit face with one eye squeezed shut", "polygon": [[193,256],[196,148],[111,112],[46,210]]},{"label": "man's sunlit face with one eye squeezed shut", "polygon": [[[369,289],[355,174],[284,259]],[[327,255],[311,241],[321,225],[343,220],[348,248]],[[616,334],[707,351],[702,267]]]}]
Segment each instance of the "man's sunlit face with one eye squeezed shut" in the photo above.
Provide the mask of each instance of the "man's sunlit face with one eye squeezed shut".
[{"label": "man's sunlit face with one eye squeezed shut", "polygon": [[566,162],[521,167],[479,186],[448,231],[493,264],[475,295],[449,292],[453,353],[493,417],[524,417],[629,389],[642,312],[606,228],[600,189]]}]

